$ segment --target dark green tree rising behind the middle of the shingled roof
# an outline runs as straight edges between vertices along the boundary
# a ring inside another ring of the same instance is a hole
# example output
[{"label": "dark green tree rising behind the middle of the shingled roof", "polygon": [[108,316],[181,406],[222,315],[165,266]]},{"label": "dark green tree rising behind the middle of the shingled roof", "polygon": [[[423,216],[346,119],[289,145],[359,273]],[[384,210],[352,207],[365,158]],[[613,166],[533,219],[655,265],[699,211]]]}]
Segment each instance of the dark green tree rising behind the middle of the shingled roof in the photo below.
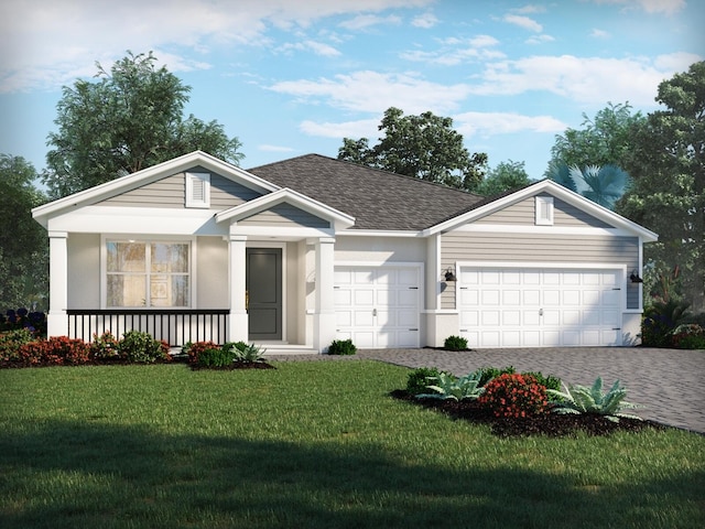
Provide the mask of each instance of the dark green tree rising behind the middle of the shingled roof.
[{"label": "dark green tree rising behind the middle of the shingled roof", "polygon": [[487,154],[469,154],[463,136],[453,130],[453,119],[432,112],[403,114],[394,107],[384,111],[378,127],[384,137],[375,147],[369,147],[367,138],[344,138],[338,159],[466,191],[477,187]]}]

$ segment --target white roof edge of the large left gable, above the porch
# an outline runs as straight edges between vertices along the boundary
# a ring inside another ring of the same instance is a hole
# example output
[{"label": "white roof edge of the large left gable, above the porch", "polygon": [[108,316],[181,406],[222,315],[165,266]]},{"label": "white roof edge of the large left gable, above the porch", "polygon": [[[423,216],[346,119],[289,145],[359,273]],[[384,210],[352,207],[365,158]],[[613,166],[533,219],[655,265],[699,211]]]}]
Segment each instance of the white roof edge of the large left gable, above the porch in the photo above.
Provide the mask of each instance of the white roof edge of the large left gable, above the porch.
[{"label": "white roof edge of the large left gable, above the porch", "polygon": [[46,227],[51,217],[63,215],[70,210],[127,193],[128,191],[156,182],[171,174],[187,171],[194,166],[200,166],[225,177],[236,180],[260,193],[271,193],[280,190],[278,185],[248,173],[236,165],[224,162],[223,160],[219,160],[206,152],[194,151],[188,154],[184,154],[183,156],[174,158],[173,160],[143,169],[137,173],[128,174],[95,187],[74,193],[73,195],[65,196],[57,201],[50,202],[42,206],[37,206],[32,209],[32,216],[37,223]]}]

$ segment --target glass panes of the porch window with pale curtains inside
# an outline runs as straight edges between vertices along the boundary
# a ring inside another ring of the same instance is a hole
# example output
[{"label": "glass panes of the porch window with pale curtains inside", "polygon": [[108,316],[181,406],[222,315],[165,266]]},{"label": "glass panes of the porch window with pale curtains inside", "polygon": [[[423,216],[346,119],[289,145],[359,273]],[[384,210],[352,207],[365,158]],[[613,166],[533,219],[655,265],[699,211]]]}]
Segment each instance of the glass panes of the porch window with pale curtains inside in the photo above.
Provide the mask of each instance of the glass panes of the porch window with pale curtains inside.
[{"label": "glass panes of the porch window with pale curtains inside", "polygon": [[106,249],[106,306],[189,306],[189,242],[109,240]]}]

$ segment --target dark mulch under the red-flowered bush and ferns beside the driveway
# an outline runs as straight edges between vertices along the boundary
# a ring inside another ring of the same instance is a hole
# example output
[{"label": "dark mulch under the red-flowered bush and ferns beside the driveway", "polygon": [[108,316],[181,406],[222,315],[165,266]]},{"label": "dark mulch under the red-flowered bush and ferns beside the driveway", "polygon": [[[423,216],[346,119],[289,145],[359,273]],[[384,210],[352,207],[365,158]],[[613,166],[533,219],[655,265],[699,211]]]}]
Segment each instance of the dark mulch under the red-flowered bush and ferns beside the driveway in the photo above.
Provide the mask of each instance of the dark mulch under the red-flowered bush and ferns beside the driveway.
[{"label": "dark mulch under the red-flowered bush and ferns beside the driveway", "polygon": [[491,432],[501,438],[521,435],[575,436],[579,431],[588,435],[609,435],[616,431],[639,432],[648,428],[658,430],[668,428],[653,421],[640,421],[637,419],[619,419],[619,422],[612,422],[597,414],[544,413],[518,419],[497,418],[491,411],[481,408],[475,400],[458,402],[455,400],[416,399],[403,389],[394,390],[390,395],[395,399],[445,413],[456,420],[489,424]]}]

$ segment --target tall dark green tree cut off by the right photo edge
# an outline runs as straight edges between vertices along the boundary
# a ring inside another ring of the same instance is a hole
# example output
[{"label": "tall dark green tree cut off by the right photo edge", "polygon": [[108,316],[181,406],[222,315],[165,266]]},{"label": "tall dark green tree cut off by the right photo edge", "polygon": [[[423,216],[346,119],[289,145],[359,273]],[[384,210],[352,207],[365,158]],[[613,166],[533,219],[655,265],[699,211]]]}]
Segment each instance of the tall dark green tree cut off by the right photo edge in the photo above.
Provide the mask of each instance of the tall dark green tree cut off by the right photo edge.
[{"label": "tall dark green tree cut off by the right photo edge", "polygon": [[633,185],[618,213],[659,234],[651,268],[680,270],[683,295],[705,309],[705,62],[659,85],[658,102],[631,130],[625,169]]}]

